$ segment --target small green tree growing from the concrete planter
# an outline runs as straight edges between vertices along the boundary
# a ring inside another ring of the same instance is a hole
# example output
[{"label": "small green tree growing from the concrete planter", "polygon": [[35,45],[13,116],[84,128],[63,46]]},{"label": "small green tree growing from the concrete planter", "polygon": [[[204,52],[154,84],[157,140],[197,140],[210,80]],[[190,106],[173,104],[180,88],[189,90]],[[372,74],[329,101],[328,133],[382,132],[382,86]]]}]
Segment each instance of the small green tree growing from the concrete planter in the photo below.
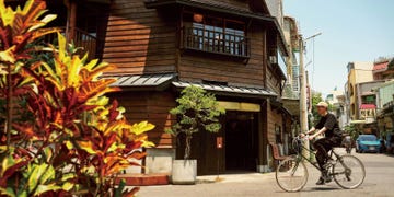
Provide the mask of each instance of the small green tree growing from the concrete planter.
[{"label": "small green tree growing from the concrete planter", "polygon": [[198,86],[187,86],[181,92],[181,97],[176,100],[178,105],[172,108],[170,113],[178,117],[178,121],[173,125],[167,132],[178,136],[185,134],[185,155],[187,160],[190,157],[190,146],[193,134],[199,130],[217,132],[221,125],[218,117],[225,113],[224,108],[219,106],[216,97]]}]

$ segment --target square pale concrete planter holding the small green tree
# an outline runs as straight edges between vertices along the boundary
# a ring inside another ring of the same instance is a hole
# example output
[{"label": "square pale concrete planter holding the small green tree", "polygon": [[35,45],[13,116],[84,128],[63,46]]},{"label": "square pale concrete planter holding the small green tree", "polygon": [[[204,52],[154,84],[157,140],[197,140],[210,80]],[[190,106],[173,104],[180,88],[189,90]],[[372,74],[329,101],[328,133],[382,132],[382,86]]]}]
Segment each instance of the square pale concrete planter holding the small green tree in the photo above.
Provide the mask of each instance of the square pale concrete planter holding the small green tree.
[{"label": "square pale concrete planter holding the small green tree", "polygon": [[194,185],[197,177],[197,160],[174,160],[172,183],[174,185]]}]

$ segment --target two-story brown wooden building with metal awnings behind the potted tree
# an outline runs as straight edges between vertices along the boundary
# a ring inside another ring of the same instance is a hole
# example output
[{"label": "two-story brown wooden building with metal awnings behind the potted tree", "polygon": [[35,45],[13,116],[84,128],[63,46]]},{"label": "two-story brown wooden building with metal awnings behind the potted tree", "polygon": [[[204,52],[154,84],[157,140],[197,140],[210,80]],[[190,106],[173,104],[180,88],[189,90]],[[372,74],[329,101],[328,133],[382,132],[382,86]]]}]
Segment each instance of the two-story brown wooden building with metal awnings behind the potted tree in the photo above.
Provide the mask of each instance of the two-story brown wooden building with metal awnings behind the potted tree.
[{"label": "two-story brown wooden building with metal awnings behind the potted tree", "polygon": [[[14,1],[10,1],[13,3]],[[182,144],[164,132],[175,120],[169,111],[179,91],[198,85],[213,92],[227,114],[219,134],[193,141],[199,174],[266,171],[269,143],[282,143],[291,116],[282,107],[288,56],[277,19],[264,0],[66,0],[47,1],[77,46],[117,69],[111,96],[130,121],[149,120],[157,148],[147,150],[147,173],[170,173]],[[286,66],[285,66],[286,67]],[[216,149],[222,137],[223,149]]]}]

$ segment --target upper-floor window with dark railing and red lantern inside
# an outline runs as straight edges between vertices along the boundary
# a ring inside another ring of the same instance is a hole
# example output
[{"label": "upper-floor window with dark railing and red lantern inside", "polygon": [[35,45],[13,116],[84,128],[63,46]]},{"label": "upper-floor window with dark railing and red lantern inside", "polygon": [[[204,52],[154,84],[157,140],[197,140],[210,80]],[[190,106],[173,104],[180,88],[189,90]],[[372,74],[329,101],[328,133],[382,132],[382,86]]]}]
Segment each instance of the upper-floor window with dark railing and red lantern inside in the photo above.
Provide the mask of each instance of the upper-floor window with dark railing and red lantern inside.
[{"label": "upper-floor window with dark railing and red lantern inside", "polygon": [[183,23],[185,48],[248,57],[244,22],[185,12]]}]

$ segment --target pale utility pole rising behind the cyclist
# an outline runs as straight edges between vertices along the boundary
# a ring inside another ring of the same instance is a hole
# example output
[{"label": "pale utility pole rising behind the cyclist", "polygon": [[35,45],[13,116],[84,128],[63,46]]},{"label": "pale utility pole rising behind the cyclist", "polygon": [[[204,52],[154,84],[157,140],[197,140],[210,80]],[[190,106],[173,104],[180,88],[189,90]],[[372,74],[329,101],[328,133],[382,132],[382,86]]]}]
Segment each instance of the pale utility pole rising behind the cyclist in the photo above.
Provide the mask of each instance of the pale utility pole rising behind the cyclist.
[{"label": "pale utility pole rising behind the cyclist", "polygon": [[[304,40],[302,35],[300,35],[300,125],[301,132],[308,131],[308,106],[306,106],[306,77],[305,77],[305,67],[303,63],[303,54],[304,54]],[[302,154],[305,158],[310,158],[309,152],[309,140],[304,140],[304,149],[302,149]]]}]

